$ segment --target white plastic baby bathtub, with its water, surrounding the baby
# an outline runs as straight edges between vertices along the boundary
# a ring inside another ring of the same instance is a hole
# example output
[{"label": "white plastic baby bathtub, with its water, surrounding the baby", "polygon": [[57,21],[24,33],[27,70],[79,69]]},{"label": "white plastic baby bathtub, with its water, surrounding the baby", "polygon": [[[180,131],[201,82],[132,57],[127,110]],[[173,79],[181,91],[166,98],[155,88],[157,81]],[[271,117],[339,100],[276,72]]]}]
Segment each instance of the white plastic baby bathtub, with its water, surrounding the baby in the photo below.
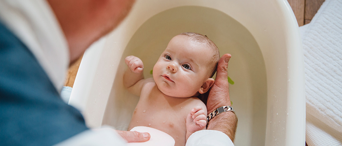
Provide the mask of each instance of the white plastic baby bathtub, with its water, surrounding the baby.
[{"label": "white plastic baby bathtub, with its water, surrounding the baby", "polygon": [[138,97],[123,87],[125,57],[140,57],[151,77],[169,40],[183,32],[207,35],[221,55],[232,55],[235,146],[305,145],[302,47],[286,0],[137,0],[120,26],[85,53],[69,104],[89,127],[126,130]]}]

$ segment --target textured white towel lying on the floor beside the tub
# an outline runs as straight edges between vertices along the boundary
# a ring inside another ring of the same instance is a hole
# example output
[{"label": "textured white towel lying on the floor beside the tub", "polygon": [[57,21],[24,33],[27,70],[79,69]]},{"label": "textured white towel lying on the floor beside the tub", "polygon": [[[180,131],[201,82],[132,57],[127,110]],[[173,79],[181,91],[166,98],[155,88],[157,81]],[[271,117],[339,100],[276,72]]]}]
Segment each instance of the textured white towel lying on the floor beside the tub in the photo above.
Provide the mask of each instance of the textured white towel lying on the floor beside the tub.
[{"label": "textured white towel lying on the floor beside the tub", "polygon": [[[299,29],[305,68],[306,141],[312,142],[310,146],[323,146],[314,141],[332,138],[342,145],[342,137],[333,136],[342,134],[342,0],[325,0],[312,21]],[[313,132],[315,128],[323,132]]]}]

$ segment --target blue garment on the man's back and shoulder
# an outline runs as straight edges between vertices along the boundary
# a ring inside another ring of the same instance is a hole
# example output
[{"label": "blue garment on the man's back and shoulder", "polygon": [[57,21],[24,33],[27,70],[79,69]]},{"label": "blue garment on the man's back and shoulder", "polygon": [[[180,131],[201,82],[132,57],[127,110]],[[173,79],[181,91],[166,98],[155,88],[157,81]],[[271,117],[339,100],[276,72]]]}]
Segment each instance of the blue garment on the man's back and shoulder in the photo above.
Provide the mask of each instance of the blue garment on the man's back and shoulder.
[{"label": "blue garment on the man's back and shoulder", "polygon": [[0,145],[51,146],[86,129],[34,55],[0,23]]}]

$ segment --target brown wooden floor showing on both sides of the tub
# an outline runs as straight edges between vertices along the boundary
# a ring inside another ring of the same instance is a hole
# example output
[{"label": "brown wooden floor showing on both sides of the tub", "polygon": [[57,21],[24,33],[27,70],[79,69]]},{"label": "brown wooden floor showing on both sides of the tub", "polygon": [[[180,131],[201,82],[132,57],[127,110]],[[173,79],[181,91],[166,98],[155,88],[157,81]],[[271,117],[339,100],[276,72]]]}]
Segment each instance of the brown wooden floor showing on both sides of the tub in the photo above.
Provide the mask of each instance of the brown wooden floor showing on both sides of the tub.
[{"label": "brown wooden floor showing on both sides of the tub", "polygon": [[[324,0],[287,0],[297,18],[298,26],[310,23]],[[73,87],[82,56],[70,66],[64,86]],[[307,146],[307,145],[306,145]]]}]

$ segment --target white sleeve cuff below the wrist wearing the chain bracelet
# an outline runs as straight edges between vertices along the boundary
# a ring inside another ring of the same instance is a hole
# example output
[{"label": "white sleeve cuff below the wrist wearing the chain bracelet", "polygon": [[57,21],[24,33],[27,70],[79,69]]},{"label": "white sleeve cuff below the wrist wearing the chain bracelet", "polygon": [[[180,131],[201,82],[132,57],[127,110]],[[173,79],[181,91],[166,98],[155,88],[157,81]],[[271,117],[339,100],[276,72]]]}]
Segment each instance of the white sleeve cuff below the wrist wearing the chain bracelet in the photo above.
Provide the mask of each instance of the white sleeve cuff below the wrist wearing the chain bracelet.
[{"label": "white sleeve cuff below the wrist wearing the chain bracelet", "polygon": [[232,140],[223,132],[199,130],[192,133],[185,146],[234,146]]}]

